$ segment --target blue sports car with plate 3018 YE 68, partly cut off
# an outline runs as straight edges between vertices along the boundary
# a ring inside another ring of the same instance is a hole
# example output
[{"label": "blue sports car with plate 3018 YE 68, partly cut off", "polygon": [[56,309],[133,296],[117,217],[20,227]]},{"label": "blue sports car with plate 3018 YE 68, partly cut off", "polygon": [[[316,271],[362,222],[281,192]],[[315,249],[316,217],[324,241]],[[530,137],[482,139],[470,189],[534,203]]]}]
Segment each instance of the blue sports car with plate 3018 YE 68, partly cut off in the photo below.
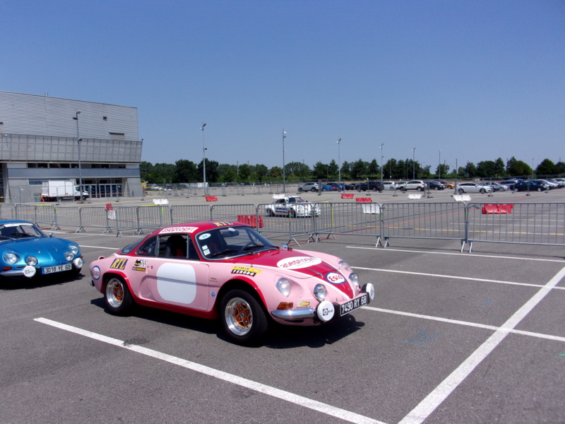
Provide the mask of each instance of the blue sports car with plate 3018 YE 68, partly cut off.
[{"label": "blue sports car with plate 3018 YE 68, partly cut off", "polygon": [[48,237],[28,221],[0,220],[1,278],[76,275],[82,267],[81,248],[75,242]]}]

